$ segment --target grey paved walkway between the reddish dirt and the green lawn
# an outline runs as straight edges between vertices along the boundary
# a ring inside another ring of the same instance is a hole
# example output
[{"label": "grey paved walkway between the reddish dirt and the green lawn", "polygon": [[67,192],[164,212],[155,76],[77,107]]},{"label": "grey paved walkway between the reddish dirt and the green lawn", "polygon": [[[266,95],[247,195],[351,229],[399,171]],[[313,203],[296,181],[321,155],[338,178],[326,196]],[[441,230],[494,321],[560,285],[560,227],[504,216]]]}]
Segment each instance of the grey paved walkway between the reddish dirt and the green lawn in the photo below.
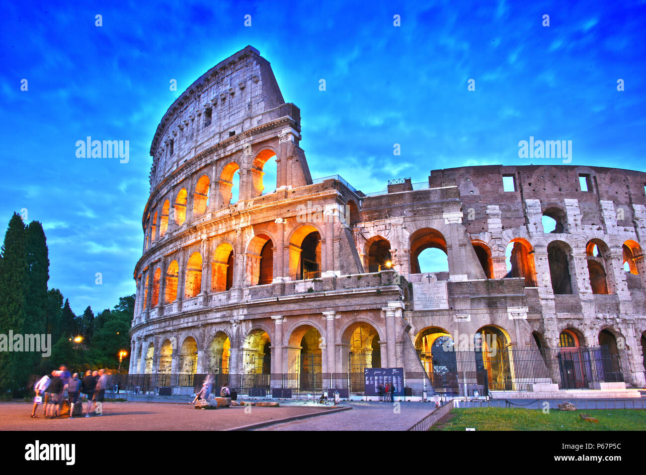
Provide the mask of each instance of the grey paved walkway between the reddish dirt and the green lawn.
[{"label": "grey paved walkway between the reddish dirt and the green lawn", "polygon": [[433,410],[432,404],[419,402],[402,402],[399,412],[393,410],[391,403],[352,401],[341,405],[351,406],[352,410],[256,430],[407,430]]}]

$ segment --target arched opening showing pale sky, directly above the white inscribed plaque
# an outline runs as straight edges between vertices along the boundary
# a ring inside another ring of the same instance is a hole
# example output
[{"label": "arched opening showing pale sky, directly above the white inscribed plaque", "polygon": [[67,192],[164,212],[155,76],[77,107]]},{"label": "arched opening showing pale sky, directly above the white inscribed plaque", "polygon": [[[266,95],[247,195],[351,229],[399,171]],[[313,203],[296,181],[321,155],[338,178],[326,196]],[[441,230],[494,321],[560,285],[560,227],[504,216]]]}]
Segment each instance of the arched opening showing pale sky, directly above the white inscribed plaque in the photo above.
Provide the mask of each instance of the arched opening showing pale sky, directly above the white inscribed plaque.
[{"label": "arched opening showing pale sky, directly above the white inscribed plaque", "polygon": [[410,268],[411,274],[448,272],[446,239],[441,232],[432,228],[423,228],[412,234]]}]

